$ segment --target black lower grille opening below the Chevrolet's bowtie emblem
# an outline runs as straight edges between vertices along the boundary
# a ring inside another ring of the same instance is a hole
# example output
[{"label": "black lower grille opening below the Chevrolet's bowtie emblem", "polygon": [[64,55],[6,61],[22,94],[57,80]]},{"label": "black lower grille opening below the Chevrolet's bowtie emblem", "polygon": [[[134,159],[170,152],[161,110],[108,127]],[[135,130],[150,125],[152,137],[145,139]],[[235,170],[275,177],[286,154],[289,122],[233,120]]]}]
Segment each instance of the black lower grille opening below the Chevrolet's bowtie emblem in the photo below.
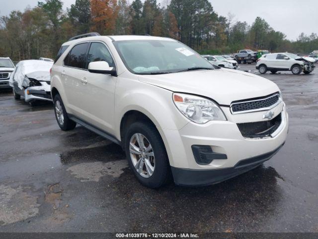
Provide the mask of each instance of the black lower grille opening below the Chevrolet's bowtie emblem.
[{"label": "black lower grille opening below the Chevrolet's bowtie emblem", "polygon": [[258,121],[250,123],[238,123],[239,131],[245,138],[262,138],[268,137],[282,122],[282,115],[279,114],[274,119],[267,121]]}]

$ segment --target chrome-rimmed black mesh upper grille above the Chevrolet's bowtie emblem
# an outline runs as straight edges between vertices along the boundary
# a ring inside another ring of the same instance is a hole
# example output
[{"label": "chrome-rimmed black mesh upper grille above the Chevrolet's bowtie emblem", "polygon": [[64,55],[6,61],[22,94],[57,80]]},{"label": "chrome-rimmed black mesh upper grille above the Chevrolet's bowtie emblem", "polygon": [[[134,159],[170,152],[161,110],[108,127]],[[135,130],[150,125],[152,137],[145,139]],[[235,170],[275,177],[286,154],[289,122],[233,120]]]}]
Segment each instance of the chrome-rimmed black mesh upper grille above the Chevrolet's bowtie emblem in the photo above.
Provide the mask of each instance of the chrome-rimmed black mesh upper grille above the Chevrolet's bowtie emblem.
[{"label": "chrome-rimmed black mesh upper grille above the Chevrolet's bowtie emblem", "polygon": [[241,114],[253,111],[267,110],[273,108],[281,102],[280,96],[278,93],[262,97],[250,99],[247,101],[233,102],[231,104],[232,114]]}]

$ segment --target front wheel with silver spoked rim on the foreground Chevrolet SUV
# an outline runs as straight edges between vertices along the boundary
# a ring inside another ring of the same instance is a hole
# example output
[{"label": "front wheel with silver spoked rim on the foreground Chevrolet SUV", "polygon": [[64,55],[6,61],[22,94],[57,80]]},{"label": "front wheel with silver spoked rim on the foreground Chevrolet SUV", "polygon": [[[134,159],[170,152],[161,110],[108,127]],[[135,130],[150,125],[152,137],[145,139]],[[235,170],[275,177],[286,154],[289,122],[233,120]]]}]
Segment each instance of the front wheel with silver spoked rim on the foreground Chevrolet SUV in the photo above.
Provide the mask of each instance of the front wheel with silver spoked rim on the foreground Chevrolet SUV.
[{"label": "front wheel with silver spoked rim on the foreground Chevrolet SUV", "polygon": [[157,128],[147,121],[132,123],[125,134],[129,166],[139,182],[159,188],[171,179],[168,156]]}]

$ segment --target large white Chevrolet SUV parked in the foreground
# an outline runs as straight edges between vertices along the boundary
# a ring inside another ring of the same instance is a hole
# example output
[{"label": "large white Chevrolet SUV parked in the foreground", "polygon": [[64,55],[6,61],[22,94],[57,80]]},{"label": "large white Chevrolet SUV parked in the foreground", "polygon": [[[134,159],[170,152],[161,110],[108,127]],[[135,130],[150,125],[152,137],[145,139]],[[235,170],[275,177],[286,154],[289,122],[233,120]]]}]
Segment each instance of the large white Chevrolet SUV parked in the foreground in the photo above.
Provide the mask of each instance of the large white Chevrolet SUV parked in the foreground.
[{"label": "large white Chevrolet SUV parked in the foreground", "polygon": [[276,84],[213,66],[177,40],[89,33],[64,43],[51,70],[62,130],[80,124],[120,144],[145,186],[232,178],[284,144]]}]

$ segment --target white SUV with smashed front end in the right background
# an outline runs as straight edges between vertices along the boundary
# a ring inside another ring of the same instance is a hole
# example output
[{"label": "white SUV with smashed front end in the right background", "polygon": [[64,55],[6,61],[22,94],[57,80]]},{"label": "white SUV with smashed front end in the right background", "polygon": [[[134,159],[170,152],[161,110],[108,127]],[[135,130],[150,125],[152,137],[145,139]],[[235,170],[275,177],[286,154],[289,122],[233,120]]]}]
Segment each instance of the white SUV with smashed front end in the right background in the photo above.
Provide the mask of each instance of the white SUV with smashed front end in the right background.
[{"label": "white SUV with smashed front end in the right background", "polygon": [[315,59],[311,57],[300,57],[293,53],[272,53],[262,56],[257,60],[256,69],[259,73],[267,71],[275,74],[277,71],[291,71],[294,75],[301,72],[311,73],[315,66]]}]

